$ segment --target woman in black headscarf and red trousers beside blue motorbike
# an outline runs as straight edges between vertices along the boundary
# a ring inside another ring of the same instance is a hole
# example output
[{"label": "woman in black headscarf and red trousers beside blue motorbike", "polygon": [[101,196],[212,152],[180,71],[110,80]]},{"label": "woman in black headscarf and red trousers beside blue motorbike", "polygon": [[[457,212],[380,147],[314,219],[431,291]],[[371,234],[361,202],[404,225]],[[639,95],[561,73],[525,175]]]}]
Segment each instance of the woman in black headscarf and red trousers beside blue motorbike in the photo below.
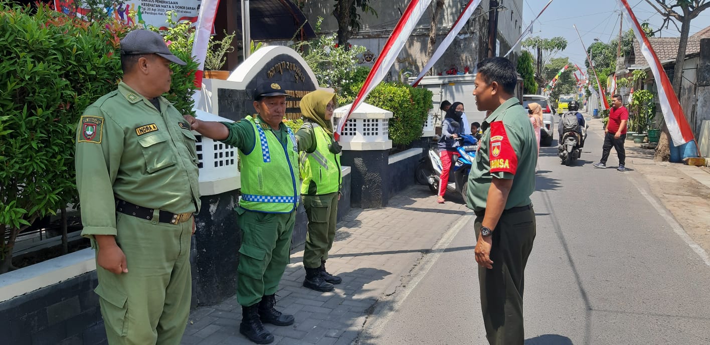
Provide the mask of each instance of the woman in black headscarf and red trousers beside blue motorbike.
[{"label": "woman in black headscarf and red trousers beside blue motorbike", "polygon": [[439,197],[437,202],[444,203],[444,193],[449,184],[449,170],[451,170],[452,160],[454,155],[459,155],[456,150],[459,146],[459,138],[463,132],[461,127],[461,115],[464,114],[464,104],[454,102],[444,116],[442,123],[442,136],[439,138],[439,158],[442,160],[442,175],[439,177]]}]

